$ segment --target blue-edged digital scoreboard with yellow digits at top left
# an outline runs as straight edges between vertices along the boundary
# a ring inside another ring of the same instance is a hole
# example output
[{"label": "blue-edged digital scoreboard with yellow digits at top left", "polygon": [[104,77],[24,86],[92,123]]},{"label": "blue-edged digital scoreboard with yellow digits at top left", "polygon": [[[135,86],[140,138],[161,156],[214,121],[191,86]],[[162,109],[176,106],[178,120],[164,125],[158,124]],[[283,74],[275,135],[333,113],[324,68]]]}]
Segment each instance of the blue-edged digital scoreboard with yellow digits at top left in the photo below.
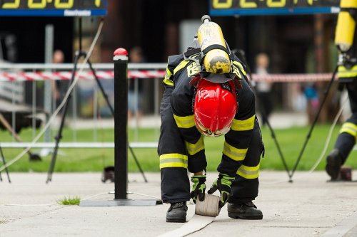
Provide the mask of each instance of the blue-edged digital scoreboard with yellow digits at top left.
[{"label": "blue-edged digital scoreboard with yellow digits at top left", "polygon": [[0,16],[104,16],[106,0],[0,0]]}]

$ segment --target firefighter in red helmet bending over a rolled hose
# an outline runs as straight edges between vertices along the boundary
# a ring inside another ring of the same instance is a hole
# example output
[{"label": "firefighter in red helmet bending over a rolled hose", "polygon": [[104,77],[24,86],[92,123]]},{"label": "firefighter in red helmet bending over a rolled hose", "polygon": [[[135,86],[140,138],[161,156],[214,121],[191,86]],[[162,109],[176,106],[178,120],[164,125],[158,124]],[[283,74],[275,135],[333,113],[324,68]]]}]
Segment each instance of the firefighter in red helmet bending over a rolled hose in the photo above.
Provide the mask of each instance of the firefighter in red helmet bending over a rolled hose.
[{"label": "firefighter in red helmet bending over a rolled hose", "polygon": [[[161,199],[171,204],[166,221],[185,222],[186,202],[191,198],[194,203],[196,199],[204,200],[207,162],[203,137],[220,135],[225,138],[223,154],[217,168],[218,178],[208,194],[219,191],[219,208],[228,202],[231,218],[261,219],[261,210],[252,202],[258,196],[263,153],[254,94],[247,83],[243,63],[226,46],[213,44],[202,51],[199,32],[201,47],[169,56],[163,81],[158,153]],[[223,55],[219,51],[226,53],[228,61],[216,57]],[[211,65],[205,65],[210,61],[209,52],[213,61],[216,60],[215,65],[212,60]],[[227,62],[228,69],[223,65]]]}]

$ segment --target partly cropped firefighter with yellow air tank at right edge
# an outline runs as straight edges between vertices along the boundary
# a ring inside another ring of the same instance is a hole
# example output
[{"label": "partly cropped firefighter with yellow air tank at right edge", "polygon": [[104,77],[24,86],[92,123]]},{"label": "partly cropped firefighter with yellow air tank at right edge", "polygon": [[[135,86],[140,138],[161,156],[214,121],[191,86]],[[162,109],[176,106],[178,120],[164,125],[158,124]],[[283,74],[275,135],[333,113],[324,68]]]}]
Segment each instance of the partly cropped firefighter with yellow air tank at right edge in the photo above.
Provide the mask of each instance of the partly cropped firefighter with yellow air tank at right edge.
[{"label": "partly cropped firefighter with yellow air tank at right edge", "polygon": [[331,180],[341,179],[340,169],[346,162],[357,137],[357,1],[342,0],[338,14],[335,43],[340,51],[338,82],[346,87],[352,115],[343,123],[333,150],[326,159],[326,172]]}]

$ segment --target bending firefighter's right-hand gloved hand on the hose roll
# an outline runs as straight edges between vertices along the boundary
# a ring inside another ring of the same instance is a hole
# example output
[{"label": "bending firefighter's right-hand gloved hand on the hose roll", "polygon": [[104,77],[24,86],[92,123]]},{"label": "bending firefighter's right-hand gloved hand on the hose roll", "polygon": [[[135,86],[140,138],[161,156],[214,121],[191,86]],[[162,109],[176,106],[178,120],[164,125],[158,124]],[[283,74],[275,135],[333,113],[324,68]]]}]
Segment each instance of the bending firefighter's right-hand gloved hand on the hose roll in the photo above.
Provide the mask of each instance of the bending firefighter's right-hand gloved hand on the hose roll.
[{"label": "bending firefighter's right-hand gloved hand on the hose roll", "polygon": [[208,190],[208,194],[213,194],[217,190],[219,191],[221,194],[221,201],[219,201],[220,208],[226,204],[231,195],[231,185],[234,179],[234,177],[230,177],[227,174],[219,174],[218,179],[213,182],[211,189]]}]

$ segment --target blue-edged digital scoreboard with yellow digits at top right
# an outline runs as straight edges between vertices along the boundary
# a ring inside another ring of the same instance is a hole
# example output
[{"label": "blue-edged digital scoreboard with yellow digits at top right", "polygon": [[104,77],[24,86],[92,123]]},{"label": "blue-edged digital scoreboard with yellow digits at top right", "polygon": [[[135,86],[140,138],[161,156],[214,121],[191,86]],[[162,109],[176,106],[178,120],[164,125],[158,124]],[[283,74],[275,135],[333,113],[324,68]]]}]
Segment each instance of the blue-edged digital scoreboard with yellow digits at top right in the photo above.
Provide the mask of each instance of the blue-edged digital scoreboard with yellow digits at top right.
[{"label": "blue-edged digital scoreboard with yellow digits at top right", "polygon": [[337,14],[340,11],[340,0],[209,0],[209,4],[211,16]]}]

